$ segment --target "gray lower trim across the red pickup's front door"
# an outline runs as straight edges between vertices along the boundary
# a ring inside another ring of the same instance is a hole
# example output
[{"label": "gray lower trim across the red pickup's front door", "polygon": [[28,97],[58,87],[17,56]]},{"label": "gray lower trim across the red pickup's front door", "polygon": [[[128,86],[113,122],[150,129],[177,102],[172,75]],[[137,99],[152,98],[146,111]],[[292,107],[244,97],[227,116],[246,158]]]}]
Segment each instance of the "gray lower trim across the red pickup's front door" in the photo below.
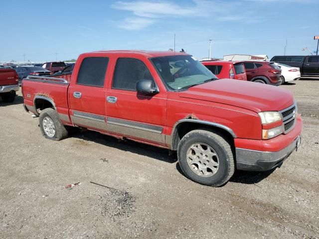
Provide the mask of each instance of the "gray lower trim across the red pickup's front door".
[{"label": "gray lower trim across the red pickup's front door", "polygon": [[128,120],[107,118],[108,131],[121,133],[126,136],[143,138],[154,142],[165,143],[163,128],[150,124],[137,123]]}]

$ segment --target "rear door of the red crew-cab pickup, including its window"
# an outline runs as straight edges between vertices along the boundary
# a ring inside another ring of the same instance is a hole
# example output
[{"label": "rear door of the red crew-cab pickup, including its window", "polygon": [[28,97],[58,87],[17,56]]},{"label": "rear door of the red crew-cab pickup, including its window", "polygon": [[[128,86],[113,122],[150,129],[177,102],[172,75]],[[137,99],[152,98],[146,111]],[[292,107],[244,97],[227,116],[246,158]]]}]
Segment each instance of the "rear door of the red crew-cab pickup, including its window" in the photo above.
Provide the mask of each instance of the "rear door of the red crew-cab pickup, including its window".
[{"label": "rear door of the red crew-cab pickup, including its window", "polygon": [[70,117],[77,126],[106,131],[108,57],[79,57],[69,87]]}]

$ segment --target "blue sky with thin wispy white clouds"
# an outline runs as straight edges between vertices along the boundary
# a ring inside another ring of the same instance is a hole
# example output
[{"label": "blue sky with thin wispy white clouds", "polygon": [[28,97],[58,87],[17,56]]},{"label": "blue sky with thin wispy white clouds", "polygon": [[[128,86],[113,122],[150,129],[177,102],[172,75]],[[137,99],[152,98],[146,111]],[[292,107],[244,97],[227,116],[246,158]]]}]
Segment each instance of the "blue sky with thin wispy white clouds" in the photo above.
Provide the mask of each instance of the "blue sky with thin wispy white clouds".
[{"label": "blue sky with thin wispy white clouds", "polygon": [[[0,61],[53,61],[111,49],[307,55],[317,49],[319,0],[6,0]],[[58,54],[55,54],[55,53]]]}]

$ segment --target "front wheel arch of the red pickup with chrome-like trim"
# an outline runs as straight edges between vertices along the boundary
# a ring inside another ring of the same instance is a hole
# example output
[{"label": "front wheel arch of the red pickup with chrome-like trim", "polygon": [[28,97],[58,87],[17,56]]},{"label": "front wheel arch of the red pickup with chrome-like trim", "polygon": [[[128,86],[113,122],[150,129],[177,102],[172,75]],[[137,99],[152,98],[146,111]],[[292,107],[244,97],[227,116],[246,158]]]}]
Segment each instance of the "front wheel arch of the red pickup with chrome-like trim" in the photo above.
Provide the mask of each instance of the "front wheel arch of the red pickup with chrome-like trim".
[{"label": "front wheel arch of the red pickup with chrome-like trim", "polygon": [[170,143],[171,150],[177,150],[177,146],[182,137],[191,130],[198,128],[217,130],[223,135],[225,135],[225,137],[232,143],[234,143],[234,138],[237,137],[231,128],[220,123],[204,121],[199,119],[181,119],[178,120],[173,126],[170,142],[168,142]]}]

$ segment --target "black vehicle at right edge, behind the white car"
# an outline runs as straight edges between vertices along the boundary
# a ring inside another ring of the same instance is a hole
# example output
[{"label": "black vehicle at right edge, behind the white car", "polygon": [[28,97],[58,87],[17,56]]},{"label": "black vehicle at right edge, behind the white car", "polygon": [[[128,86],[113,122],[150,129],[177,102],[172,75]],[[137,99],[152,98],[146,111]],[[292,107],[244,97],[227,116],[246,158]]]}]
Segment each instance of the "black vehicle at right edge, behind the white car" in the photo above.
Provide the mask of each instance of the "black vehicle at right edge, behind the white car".
[{"label": "black vehicle at right edge, behind the white car", "polygon": [[274,56],[270,61],[299,67],[303,77],[319,77],[319,56]]}]

